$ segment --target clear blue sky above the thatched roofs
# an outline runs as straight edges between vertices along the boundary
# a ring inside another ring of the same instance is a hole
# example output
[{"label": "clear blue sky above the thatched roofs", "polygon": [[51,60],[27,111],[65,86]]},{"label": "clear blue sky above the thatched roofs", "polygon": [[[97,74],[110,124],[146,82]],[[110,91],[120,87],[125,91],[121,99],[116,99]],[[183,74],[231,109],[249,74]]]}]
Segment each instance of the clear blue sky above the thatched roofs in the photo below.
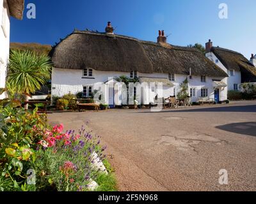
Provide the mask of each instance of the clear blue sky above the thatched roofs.
[{"label": "clear blue sky above the thatched roofs", "polygon": [[[104,31],[108,21],[115,33],[156,41],[164,29],[168,43],[187,46],[209,39],[214,46],[256,54],[255,0],[25,0],[36,5],[36,19],[12,18],[12,42],[54,45],[74,28]],[[219,4],[228,6],[228,19],[219,18]]]}]

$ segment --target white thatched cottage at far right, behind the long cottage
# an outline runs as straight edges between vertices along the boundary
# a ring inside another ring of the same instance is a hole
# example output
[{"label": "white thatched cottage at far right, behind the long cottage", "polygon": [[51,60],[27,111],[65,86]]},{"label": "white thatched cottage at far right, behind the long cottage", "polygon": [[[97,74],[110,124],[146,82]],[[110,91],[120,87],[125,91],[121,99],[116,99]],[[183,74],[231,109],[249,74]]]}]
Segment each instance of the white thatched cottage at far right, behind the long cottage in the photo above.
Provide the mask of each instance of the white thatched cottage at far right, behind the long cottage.
[{"label": "white thatched cottage at far right, behind the long cottage", "polygon": [[228,91],[239,91],[240,85],[256,82],[256,68],[239,52],[213,47],[212,41],[205,43],[205,56],[228,74]]}]

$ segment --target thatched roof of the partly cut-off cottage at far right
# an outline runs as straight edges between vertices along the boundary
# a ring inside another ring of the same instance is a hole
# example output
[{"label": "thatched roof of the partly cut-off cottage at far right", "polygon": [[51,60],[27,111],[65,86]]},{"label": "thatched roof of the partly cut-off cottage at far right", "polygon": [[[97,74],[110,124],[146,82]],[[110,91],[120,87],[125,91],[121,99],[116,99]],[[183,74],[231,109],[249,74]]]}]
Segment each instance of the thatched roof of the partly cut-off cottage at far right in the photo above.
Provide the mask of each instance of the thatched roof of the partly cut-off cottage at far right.
[{"label": "thatched roof of the partly cut-off cottage at far right", "polygon": [[218,57],[225,68],[241,71],[242,83],[256,82],[256,68],[242,54],[220,47],[212,47],[211,52]]}]

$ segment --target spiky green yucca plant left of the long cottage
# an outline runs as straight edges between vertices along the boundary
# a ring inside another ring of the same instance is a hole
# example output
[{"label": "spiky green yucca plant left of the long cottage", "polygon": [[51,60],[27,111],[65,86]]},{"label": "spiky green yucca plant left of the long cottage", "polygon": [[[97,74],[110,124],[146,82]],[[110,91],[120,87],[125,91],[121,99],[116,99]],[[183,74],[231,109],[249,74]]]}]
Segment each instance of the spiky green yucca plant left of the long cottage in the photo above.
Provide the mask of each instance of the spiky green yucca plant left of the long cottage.
[{"label": "spiky green yucca plant left of the long cottage", "polygon": [[[10,53],[7,83],[16,94],[34,94],[51,78],[51,59],[31,51]],[[26,96],[28,100],[29,96]]]}]

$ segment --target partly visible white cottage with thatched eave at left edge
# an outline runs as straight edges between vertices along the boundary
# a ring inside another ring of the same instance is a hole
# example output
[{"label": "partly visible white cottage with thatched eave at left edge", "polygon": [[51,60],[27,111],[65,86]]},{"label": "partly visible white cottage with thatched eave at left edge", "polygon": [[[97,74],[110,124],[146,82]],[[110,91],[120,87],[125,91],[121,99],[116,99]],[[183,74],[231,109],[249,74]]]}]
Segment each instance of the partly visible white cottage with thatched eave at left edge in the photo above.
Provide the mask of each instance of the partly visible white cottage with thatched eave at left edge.
[{"label": "partly visible white cottage with thatched eave at left edge", "polygon": [[[22,19],[24,0],[0,0],[0,88],[5,87],[10,49],[10,16]],[[5,98],[2,94],[0,99]]]}]

